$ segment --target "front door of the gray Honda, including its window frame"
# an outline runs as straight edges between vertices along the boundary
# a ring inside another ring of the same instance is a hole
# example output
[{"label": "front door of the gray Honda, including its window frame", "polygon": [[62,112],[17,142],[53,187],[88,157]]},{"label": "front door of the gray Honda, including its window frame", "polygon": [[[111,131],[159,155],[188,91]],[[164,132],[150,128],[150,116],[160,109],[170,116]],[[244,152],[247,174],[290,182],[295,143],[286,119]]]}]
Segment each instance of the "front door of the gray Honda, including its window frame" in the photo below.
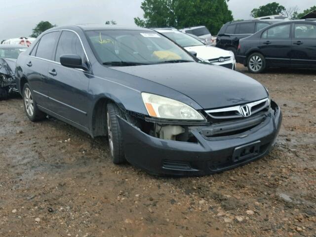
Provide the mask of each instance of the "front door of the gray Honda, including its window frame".
[{"label": "front door of the gray Honda, including its window frame", "polygon": [[88,67],[88,60],[79,36],[72,31],[63,30],[58,41],[55,63],[48,68],[50,110],[76,125],[87,127],[87,111],[89,110],[88,84],[91,78],[82,69],[64,67],[60,64],[60,56],[76,54]]}]

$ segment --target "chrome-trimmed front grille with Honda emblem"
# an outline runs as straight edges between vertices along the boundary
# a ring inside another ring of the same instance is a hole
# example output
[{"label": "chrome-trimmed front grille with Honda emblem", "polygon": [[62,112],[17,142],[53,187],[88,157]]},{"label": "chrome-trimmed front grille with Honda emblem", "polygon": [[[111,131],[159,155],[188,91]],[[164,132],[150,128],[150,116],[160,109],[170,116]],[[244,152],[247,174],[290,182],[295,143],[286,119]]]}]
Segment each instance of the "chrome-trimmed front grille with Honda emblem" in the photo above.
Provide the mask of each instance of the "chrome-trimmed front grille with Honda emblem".
[{"label": "chrome-trimmed front grille with Honda emblem", "polygon": [[[250,117],[251,115],[254,115],[266,108],[269,107],[270,101],[269,98],[255,101],[252,103],[247,103],[243,105],[237,105],[232,107],[225,107],[220,109],[214,109],[214,110],[206,110],[205,113],[215,119],[230,119],[230,118],[244,118],[244,117]],[[242,111],[242,107],[248,108],[248,113],[244,113]]]}]

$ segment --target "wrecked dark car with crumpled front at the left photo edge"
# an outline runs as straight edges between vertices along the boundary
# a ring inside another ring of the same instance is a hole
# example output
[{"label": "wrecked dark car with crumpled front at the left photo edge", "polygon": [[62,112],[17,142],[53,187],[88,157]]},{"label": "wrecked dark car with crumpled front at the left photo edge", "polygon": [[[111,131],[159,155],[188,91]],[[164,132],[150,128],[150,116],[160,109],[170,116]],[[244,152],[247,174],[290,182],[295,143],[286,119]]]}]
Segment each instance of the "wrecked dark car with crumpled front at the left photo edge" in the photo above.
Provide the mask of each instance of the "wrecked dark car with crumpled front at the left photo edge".
[{"label": "wrecked dark car with crumpled front at the left photo edge", "polygon": [[22,45],[0,44],[0,100],[6,99],[11,91],[17,91],[15,62],[19,54],[26,49],[27,47]]}]

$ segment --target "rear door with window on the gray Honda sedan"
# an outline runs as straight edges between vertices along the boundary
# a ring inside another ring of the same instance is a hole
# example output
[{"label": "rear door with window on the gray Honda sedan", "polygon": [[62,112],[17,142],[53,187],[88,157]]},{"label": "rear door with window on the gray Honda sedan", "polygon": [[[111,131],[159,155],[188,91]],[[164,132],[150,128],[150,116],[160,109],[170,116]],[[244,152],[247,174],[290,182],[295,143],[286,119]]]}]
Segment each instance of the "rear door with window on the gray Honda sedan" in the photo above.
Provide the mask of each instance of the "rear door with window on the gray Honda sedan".
[{"label": "rear door with window on the gray Honda sedan", "polygon": [[33,90],[33,96],[36,102],[44,107],[49,107],[48,100],[48,68],[49,64],[53,60],[54,48],[57,43],[59,31],[54,31],[43,35],[40,41],[32,50],[28,60],[26,61],[26,68],[28,72],[28,81],[31,89]]}]

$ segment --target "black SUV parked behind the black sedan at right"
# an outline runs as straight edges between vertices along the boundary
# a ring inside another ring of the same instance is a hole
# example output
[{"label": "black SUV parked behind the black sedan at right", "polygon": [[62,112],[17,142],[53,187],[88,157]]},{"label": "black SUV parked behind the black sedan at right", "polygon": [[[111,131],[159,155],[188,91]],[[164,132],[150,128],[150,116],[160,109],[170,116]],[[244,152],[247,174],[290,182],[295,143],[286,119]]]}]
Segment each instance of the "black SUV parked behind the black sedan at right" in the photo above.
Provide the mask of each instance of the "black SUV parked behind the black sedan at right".
[{"label": "black SUV parked behind the black sedan at right", "polygon": [[269,25],[282,21],[284,21],[284,19],[255,19],[227,22],[217,34],[216,47],[233,51],[236,55],[240,39],[248,37]]}]

